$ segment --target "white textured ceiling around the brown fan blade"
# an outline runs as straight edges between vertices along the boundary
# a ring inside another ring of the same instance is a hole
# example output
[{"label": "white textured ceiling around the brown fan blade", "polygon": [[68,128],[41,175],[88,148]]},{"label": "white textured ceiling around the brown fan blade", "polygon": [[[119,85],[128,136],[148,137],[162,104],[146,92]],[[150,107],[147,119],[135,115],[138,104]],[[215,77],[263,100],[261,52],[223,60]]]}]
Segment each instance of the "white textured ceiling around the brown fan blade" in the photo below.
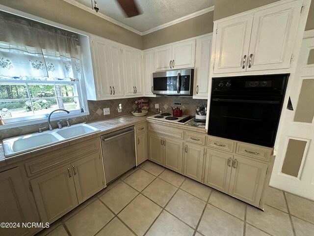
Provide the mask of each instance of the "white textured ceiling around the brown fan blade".
[{"label": "white textured ceiling around the brown fan blade", "polygon": [[[78,2],[91,9],[91,0],[66,1]],[[135,0],[135,2],[142,13],[138,16],[126,18],[116,0],[97,0],[98,13],[144,32],[214,5],[214,0]]]}]

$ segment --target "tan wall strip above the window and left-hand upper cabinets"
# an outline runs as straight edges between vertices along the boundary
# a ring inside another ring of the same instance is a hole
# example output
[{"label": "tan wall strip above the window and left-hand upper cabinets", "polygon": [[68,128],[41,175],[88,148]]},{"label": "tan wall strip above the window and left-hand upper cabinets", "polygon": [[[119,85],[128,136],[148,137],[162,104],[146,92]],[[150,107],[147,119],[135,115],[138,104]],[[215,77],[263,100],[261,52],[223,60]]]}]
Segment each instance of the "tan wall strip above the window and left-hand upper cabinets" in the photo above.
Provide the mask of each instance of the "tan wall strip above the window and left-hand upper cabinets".
[{"label": "tan wall strip above the window and left-hand upper cabinets", "polygon": [[142,49],[142,36],[63,0],[0,0],[0,4]]}]

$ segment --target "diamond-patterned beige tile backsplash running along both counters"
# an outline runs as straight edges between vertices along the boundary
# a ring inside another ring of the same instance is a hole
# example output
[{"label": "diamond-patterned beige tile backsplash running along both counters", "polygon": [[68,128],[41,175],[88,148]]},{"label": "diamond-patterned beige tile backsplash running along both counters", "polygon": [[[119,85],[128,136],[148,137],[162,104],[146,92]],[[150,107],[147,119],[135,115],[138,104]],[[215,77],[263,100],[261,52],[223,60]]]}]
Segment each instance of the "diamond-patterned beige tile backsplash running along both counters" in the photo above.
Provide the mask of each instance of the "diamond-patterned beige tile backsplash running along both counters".
[{"label": "diamond-patterned beige tile backsplash running along both counters", "polygon": [[[100,119],[113,118],[118,116],[124,116],[131,114],[131,111],[134,111],[136,105],[134,101],[138,98],[123,98],[123,99],[112,99],[104,101],[88,101],[89,115],[81,116],[76,118],[71,118],[71,124],[82,123],[86,121],[94,121]],[[195,108],[197,104],[207,104],[207,100],[202,99],[192,99],[191,97],[171,97],[171,96],[161,96],[161,97],[149,97],[149,111],[155,111],[155,104],[159,104],[159,108],[162,112],[172,113],[171,107],[174,103],[182,103],[183,115],[195,115]],[[118,104],[122,104],[122,112],[118,112]],[[104,116],[104,108],[110,108],[110,115]],[[66,126],[65,121],[62,123],[63,126]],[[36,133],[39,128],[48,127],[47,122],[26,125],[16,128],[9,128],[0,131],[0,140],[11,138],[15,136]],[[57,121],[52,121],[52,127],[57,128]]]}]

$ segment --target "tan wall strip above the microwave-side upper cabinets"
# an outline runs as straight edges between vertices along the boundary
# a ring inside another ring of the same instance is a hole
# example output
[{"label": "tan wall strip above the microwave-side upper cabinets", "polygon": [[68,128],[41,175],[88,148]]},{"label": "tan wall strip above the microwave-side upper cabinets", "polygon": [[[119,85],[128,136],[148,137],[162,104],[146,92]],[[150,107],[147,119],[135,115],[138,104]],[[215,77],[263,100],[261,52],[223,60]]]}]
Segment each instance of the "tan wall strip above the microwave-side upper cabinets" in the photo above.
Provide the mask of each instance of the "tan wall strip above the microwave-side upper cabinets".
[{"label": "tan wall strip above the microwave-side upper cabinets", "polygon": [[210,33],[214,11],[143,35],[143,50]]}]

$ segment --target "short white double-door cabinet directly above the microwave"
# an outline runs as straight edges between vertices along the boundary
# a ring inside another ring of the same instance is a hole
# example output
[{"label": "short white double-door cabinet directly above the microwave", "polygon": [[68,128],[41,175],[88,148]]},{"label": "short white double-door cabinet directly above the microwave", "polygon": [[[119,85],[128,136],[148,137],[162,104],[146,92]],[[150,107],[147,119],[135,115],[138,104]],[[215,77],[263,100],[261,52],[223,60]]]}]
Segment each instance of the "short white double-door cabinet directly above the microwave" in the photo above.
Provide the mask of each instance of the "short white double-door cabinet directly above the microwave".
[{"label": "short white double-door cabinet directly above the microwave", "polygon": [[155,71],[194,67],[195,39],[155,48]]}]

